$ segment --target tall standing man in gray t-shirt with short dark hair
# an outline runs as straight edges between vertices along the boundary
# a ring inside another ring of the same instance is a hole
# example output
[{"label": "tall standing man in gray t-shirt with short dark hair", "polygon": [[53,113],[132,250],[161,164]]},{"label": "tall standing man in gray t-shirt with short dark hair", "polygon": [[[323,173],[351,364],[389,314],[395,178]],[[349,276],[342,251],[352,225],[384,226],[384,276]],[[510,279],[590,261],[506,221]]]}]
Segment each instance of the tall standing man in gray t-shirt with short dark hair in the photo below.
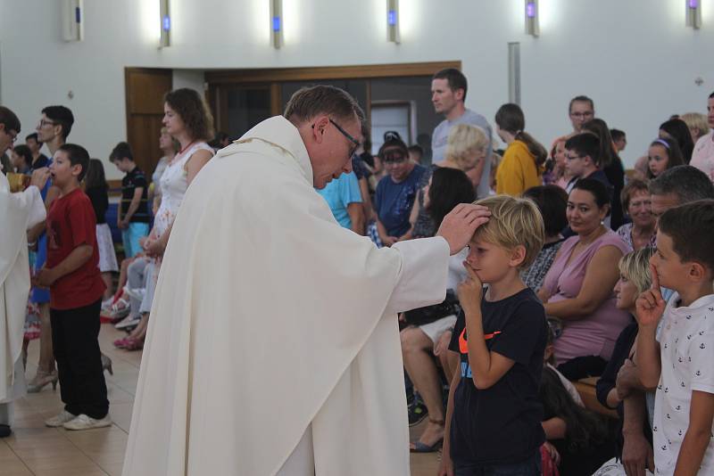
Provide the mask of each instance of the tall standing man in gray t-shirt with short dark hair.
[{"label": "tall standing man in gray t-shirt with short dark hair", "polygon": [[[452,126],[456,124],[471,124],[481,127],[489,138],[488,151],[483,168],[469,170],[467,175],[477,185],[477,197],[483,198],[491,189],[491,126],[485,117],[477,112],[470,111],[464,106],[466,99],[467,81],[460,70],[452,68],[441,70],[434,75],[431,81],[431,102],[434,103],[436,112],[444,114],[444,120],[434,129],[431,139],[432,163],[444,160],[446,142]],[[480,169],[480,170],[479,170]]]}]

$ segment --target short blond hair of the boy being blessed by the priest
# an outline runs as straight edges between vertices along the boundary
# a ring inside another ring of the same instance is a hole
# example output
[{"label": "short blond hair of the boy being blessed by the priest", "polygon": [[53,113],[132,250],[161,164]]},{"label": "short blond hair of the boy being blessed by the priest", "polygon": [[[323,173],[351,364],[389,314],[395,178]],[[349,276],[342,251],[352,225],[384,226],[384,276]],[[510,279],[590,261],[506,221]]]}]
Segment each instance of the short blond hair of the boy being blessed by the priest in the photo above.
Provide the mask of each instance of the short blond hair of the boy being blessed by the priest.
[{"label": "short blond hair of the boy being blessed by the priest", "polygon": [[535,203],[509,195],[494,195],[475,203],[491,210],[491,219],[477,228],[474,240],[493,243],[506,250],[522,245],[526,249],[526,257],[519,264],[519,269],[533,264],[545,240],[543,216]]}]

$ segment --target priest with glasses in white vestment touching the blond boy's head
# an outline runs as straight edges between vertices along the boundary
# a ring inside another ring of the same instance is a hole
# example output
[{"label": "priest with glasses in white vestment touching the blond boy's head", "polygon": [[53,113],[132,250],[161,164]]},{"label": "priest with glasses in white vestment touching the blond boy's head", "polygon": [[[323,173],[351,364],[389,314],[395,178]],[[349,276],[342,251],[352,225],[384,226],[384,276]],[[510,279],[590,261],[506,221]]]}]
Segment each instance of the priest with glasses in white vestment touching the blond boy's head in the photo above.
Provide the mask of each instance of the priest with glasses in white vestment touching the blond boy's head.
[{"label": "priest with glasses in white vestment touching the blond boy's head", "polygon": [[488,211],[378,250],[313,190],[351,170],[359,106],[298,91],[195,177],[151,311],[124,476],[409,474],[396,313],[444,300]]}]

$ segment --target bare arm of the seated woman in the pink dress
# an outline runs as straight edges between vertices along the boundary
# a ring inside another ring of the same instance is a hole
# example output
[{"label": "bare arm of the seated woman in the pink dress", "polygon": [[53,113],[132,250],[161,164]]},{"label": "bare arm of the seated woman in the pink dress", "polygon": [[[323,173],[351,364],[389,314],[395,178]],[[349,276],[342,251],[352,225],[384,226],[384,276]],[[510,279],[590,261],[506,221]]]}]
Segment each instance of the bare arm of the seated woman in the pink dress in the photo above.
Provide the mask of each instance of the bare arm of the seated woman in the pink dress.
[{"label": "bare arm of the seated woman in the pink dress", "polygon": [[622,251],[615,246],[603,246],[597,250],[587,264],[585,278],[577,296],[546,303],[545,314],[569,320],[583,319],[593,314],[612,294],[612,288],[618,282],[620,258]]}]

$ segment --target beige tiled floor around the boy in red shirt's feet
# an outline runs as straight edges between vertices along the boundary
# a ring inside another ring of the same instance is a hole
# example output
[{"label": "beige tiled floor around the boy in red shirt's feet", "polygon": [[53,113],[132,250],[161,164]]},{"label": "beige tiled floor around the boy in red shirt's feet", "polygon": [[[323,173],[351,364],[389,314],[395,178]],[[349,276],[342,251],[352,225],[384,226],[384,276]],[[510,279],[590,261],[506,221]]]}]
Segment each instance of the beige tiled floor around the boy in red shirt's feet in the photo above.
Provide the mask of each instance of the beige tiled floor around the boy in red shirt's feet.
[{"label": "beige tiled floor around the boy in red shirt's feet", "polygon": [[[44,421],[62,410],[59,389],[47,385],[40,393],[15,402],[13,434],[0,439],[2,476],[120,476],[141,352],[114,349],[112,341],[125,335],[104,324],[100,334],[104,353],[112,358],[113,375],[106,374],[112,426],[89,431],[46,428]],[[29,346],[28,376],[36,371],[37,341]],[[412,429],[416,438],[420,427]],[[412,476],[436,475],[436,454],[411,455]]]}]

